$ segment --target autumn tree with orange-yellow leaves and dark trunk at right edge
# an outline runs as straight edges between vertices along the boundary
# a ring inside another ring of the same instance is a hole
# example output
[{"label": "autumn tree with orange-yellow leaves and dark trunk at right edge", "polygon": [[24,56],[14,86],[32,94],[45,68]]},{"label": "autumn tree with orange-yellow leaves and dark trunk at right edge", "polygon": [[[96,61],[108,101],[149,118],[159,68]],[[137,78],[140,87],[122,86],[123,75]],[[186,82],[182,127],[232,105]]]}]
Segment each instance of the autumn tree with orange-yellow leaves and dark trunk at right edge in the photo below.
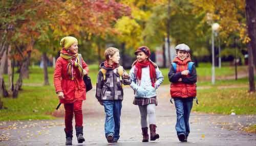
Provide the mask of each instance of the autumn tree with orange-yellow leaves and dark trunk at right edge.
[{"label": "autumn tree with orange-yellow leaves and dark trunk at right edge", "polygon": [[[190,2],[194,5],[194,13],[200,14],[203,13],[205,15],[204,19],[201,22],[207,22],[211,24],[212,22],[218,22],[220,24],[219,35],[222,40],[224,40],[224,44],[227,47],[235,48],[232,52],[236,52],[237,45],[240,44],[240,47],[245,46],[251,39],[253,39],[253,35],[249,36],[247,34],[247,25],[248,25],[248,32],[253,32],[253,25],[249,26],[250,20],[253,19],[255,8],[253,9],[254,1],[246,1],[246,15],[245,15],[245,0],[232,0],[232,1],[196,1],[190,0]],[[246,18],[247,17],[247,25],[246,25]],[[240,41],[241,43],[238,43]],[[255,43],[255,41],[251,41],[250,44]],[[253,46],[252,46],[253,47]],[[250,48],[250,47],[249,47]],[[253,48],[250,52],[248,50],[250,56],[250,60],[254,60],[255,66],[255,59],[252,56],[255,56],[255,52]],[[233,53],[236,54],[236,53]],[[251,67],[249,66],[249,70]],[[254,78],[253,71],[249,71],[249,82],[250,82],[250,90],[252,79]],[[255,90],[255,89],[254,89]]]}]

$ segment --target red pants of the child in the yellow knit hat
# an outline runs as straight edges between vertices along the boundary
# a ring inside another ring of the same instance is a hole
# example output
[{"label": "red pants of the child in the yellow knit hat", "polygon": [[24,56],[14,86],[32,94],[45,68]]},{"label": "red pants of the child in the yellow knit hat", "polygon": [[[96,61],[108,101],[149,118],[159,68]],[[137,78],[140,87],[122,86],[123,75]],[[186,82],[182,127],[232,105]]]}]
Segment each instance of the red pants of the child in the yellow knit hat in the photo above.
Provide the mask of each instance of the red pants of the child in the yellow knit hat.
[{"label": "red pants of the child in the yellow knit hat", "polygon": [[71,104],[64,104],[66,131],[72,131],[73,114],[75,113],[76,127],[82,126],[82,101],[75,101]]}]

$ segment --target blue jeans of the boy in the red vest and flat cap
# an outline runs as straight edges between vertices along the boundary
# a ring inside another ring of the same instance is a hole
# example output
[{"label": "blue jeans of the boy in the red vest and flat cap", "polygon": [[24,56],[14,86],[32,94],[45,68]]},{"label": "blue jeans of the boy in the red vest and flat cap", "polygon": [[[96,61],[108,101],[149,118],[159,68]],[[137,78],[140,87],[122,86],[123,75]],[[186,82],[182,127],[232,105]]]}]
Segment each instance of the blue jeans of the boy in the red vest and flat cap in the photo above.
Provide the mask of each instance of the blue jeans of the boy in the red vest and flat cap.
[{"label": "blue jeans of the boy in the red vest and flat cap", "polygon": [[193,107],[193,98],[174,98],[177,122],[176,131],[177,135],[185,134],[188,136],[189,129],[189,114]]}]

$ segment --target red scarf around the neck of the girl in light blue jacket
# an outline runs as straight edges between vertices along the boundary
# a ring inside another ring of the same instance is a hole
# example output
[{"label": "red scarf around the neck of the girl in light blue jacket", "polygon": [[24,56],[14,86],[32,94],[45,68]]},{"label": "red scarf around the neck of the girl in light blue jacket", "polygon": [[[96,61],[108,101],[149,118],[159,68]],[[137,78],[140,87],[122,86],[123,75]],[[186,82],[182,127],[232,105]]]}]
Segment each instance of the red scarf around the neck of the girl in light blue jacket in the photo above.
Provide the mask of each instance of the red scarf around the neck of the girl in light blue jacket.
[{"label": "red scarf around the neck of the girl in light blue jacket", "polygon": [[135,67],[137,68],[137,69],[135,69],[136,70],[135,71],[136,79],[139,79],[139,81],[141,80],[142,68],[147,67],[147,66],[150,66],[151,85],[153,87],[155,87],[156,68],[150,60],[147,60],[146,62],[139,62],[139,61],[136,62],[136,64],[135,64]]}]

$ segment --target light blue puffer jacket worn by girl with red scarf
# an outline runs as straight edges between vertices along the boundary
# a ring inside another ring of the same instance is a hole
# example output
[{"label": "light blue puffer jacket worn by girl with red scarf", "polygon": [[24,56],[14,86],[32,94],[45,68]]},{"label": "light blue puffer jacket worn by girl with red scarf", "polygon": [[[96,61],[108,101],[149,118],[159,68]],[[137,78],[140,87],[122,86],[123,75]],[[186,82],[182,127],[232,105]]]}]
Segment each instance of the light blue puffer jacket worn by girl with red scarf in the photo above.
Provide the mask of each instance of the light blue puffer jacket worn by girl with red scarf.
[{"label": "light blue puffer jacket worn by girl with red scarf", "polygon": [[162,84],[163,82],[163,75],[162,72],[159,70],[158,66],[156,66],[156,83],[155,88],[151,84],[150,78],[150,67],[142,68],[142,76],[141,76],[141,83],[136,83],[135,78],[135,65],[130,70],[130,77],[131,77],[131,87],[135,92],[135,98],[152,98],[156,96],[156,89]]}]

